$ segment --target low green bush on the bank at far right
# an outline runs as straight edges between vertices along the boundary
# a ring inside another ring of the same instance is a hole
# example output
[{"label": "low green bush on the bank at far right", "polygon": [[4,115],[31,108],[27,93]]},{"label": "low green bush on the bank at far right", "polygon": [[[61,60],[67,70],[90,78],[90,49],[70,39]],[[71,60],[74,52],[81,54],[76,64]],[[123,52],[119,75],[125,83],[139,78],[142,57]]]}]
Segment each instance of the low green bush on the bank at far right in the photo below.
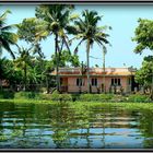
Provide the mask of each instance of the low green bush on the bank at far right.
[{"label": "low green bush on the bank at far right", "polygon": [[146,95],[140,95],[140,94],[134,94],[134,95],[129,95],[128,102],[139,102],[139,103],[144,103],[149,102],[149,96]]}]

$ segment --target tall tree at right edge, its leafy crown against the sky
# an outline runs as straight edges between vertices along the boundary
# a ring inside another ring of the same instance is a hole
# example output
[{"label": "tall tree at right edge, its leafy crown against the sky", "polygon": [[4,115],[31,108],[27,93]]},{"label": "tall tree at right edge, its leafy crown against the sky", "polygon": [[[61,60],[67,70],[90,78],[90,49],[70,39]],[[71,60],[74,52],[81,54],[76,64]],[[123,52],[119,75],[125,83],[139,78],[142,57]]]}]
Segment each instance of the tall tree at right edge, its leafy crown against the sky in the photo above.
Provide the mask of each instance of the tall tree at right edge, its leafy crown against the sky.
[{"label": "tall tree at right edge, its leafy crown against the sky", "polygon": [[[136,54],[142,54],[144,50],[153,51],[153,20],[138,20],[138,27],[134,31],[133,42],[137,42],[134,48]],[[151,78],[151,75],[150,75]],[[153,98],[153,70],[152,70],[152,92],[151,98]]]}]

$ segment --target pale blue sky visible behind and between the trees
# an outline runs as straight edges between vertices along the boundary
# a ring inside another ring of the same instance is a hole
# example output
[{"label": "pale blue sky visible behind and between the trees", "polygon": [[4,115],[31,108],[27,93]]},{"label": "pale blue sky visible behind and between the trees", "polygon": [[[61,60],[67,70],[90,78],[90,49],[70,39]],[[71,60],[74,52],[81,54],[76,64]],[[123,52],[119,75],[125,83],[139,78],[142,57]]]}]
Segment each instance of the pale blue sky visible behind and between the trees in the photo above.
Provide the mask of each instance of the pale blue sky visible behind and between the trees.
[{"label": "pale blue sky visible behind and between the trees", "polygon": [[[3,4],[0,5],[0,13],[4,10],[11,10],[12,14],[8,15],[8,24],[21,23],[25,17],[35,16],[34,4]],[[81,12],[85,9],[97,11],[99,15],[103,15],[99,26],[111,26],[111,31],[107,31],[109,34],[108,40],[111,46],[107,47],[106,54],[106,67],[122,68],[131,67],[140,68],[145,56],[152,55],[151,50],[144,50],[140,56],[133,52],[136,43],[131,40],[134,36],[134,30],[138,26],[138,19],[153,20],[153,4],[76,4],[74,13],[81,15]],[[20,45],[25,43],[20,42]],[[72,50],[76,42],[72,46]],[[42,48],[47,59],[50,59],[54,54],[54,37],[50,36],[46,40],[42,42]],[[13,48],[15,49],[15,48]],[[91,49],[90,66],[95,67],[103,66],[102,47],[94,44]],[[86,62],[85,44],[79,47],[80,61]],[[7,51],[3,51],[3,56],[10,58]],[[94,57],[94,58],[92,58]]]}]

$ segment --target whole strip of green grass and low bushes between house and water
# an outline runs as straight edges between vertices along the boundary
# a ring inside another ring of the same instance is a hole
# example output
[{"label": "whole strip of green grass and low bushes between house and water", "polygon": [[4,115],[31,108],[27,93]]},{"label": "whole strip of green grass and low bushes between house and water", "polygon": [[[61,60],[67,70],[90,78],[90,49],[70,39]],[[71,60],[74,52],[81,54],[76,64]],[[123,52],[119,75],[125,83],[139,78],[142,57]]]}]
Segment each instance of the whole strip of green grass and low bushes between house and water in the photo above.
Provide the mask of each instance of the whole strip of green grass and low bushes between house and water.
[{"label": "whole strip of green grass and low bushes between house and water", "polygon": [[[4,96],[3,96],[4,95]],[[8,94],[1,93],[0,102],[26,103],[26,104],[67,104],[72,108],[85,107],[117,107],[120,109],[148,109],[153,111],[153,103],[146,95],[131,94],[129,96],[113,94],[42,94],[32,92],[14,93],[11,98],[4,98]],[[9,97],[9,95],[8,95]],[[149,103],[150,102],[150,103]],[[84,109],[85,110],[85,109]]]}]

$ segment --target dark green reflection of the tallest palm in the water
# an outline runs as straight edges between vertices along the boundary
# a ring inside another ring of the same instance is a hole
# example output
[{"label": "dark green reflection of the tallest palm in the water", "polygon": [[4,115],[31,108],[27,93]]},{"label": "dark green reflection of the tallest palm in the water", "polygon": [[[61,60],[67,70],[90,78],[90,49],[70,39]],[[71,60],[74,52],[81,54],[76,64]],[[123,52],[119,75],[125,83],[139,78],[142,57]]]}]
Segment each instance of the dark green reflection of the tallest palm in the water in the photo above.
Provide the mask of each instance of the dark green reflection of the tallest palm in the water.
[{"label": "dark green reflection of the tallest palm in the water", "polygon": [[54,131],[51,138],[56,144],[56,148],[64,149],[68,148],[68,144],[70,145],[71,143],[68,133],[71,130],[71,125],[74,123],[73,120],[70,119],[71,109],[67,106],[67,104],[62,104],[58,106],[55,114],[56,116],[51,117],[51,128]]}]

